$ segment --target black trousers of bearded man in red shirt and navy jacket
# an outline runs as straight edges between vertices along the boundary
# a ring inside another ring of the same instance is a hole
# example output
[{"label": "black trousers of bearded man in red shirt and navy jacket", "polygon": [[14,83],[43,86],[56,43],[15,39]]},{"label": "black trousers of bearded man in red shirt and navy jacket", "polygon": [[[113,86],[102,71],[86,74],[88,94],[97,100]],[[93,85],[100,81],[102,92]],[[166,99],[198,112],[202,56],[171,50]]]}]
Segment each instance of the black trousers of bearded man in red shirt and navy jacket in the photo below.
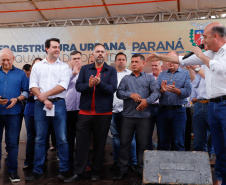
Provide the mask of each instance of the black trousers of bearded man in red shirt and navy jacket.
[{"label": "black trousers of bearded man in red shirt and navy jacket", "polygon": [[76,147],[74,173],[82,174],[89,159],[91,137],[93,135],[93,172],[100,172],[104,148],[112,115],[78,115],[76,123]]}]

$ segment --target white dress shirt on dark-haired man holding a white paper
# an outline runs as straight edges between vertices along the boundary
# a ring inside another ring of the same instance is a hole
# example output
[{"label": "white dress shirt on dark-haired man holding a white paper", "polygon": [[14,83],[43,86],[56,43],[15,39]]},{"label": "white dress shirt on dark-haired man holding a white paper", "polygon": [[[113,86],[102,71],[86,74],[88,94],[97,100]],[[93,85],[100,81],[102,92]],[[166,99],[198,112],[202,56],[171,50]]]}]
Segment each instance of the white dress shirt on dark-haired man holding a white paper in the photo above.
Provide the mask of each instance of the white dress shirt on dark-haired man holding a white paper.
[{"label": "white dress shirt on dark-haired man holding a white paper", "polygon": [[[47,60],[44,59],[32,67],[29,88],[38,87],[41,93],[43,93],[60,85],[65,88],[65,91],[57,95],[49,96],[48,98],[65,98],[70,75],[71,71],[69,66],[59,59],[53,64],[48,63]],[[35,97],[35,99],[37,99],[37,97]]]}]

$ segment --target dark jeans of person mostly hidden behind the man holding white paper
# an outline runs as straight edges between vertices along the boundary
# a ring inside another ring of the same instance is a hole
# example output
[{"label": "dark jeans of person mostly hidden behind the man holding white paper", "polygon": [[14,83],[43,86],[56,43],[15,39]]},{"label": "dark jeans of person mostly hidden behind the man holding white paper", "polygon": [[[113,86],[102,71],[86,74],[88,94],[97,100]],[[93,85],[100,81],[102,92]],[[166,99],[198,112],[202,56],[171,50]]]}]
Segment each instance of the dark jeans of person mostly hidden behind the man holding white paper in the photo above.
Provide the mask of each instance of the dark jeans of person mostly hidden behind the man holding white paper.
[{"label": "dark jeans of person mostly hidden behind the man holding white paper", "polygon": [[34,147],[35,147],[35,122],[34,116],[24,116],[25,125],[27,129],[27,145],[26,145],[26,159],[24,166],[32,166],[34,162]]}]

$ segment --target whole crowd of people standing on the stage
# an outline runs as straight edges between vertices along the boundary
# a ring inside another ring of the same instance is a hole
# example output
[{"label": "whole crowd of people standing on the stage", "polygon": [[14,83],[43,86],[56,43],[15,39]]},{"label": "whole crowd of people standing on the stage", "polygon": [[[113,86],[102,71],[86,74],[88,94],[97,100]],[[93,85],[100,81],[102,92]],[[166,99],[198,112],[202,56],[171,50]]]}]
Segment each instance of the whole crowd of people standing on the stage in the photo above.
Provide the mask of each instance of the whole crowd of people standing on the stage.
[{"label": "whole crowd of people standing on the stage", "polygon": [[[153,149],[155,127],[158,150],[186,149],[186,107],[191,101],[194,150],[216,154],[215,185],[225,185],[226,28],[220,23],[209,24],[203,36],[204,53],[195,47],[194,55],[187,59],[176,51],[150,53],[146,59],[134,54],[131,71],[122,52],[115,56],[115,68],[108,65],[102,44],[95,45],[87,65],[82,65],[80,51],[70,53],[67,65],[59,59],[60,40],[51,38],[45,42],[47,57],[36,58],[23,70],[13,66],[13,52],[2,49],[0,139],[5,128],[10,180],[20,181],[17,157],[23,116],[27,130],[24,169],[31,170],[27,181],[44,177],[50,134],[55,136],[60,180],[81,180],[87,165],[91,180],[100,180],[109,129],[114,161],[110,169],[116,172],[113,180],[122,180],[129,168],[142,178],[143,154]],[[163,61],[168,68],[165,71]],[[152,73],[144,72],[146,62]]]}]

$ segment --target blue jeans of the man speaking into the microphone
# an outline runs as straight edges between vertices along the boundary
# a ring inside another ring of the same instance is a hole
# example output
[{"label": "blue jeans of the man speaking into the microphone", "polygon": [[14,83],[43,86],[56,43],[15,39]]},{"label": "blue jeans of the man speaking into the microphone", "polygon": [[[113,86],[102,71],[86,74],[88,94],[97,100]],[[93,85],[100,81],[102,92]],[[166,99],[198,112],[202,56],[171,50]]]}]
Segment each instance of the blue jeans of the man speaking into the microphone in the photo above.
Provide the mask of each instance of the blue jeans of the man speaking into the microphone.
[{"label": "blue jeans of the man speaking into the microphone", "polygon": [[210,132],[216,154],[215,171],[226,185],[226,100],[209,104]]}]

